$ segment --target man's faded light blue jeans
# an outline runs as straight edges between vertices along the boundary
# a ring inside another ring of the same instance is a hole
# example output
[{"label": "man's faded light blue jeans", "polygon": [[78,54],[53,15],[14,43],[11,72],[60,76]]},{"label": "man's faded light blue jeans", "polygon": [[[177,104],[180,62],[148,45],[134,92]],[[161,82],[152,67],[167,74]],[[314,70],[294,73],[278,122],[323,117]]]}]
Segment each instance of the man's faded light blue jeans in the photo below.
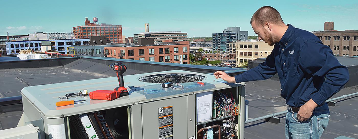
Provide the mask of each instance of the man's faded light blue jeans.
[{"label": "man's faded light blue jeans", "polygon": [[313,113],[304,122],[297,121],[296,112],[286,114],[286,139],[319,139],[329,121],[329,110]]}]

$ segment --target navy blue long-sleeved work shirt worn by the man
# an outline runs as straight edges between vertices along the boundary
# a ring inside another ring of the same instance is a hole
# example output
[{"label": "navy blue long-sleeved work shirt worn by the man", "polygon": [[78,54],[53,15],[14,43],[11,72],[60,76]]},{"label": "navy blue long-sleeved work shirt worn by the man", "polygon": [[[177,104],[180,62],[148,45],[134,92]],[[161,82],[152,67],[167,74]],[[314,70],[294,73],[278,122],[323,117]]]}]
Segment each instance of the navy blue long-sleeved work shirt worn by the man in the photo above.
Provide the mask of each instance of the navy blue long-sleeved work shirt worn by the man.
[{"label": "navy blue long-sleeved work shirt worn by the man", "polygon": [[280,42],[275,43],[265,62],[235,76],[236,82],[264,80],[276,73],[281,82],[281,97],[292,107],[312,99],[314,112],[328,110],[325,102],[349,79],[348,69],[333,56],[314,34],[289,26]]}]

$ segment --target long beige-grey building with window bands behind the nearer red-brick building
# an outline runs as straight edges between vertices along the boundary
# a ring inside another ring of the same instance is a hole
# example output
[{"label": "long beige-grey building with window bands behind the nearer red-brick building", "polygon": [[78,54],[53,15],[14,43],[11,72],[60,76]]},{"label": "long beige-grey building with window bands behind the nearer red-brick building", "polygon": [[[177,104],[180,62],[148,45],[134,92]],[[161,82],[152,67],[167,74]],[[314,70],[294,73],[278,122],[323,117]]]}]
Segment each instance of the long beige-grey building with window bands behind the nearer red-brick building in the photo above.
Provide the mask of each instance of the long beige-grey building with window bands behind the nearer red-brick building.
[{"label": "long beige-grey building with window bands behind the nearer red-brick building", "polygon": [[188,33],[181,31],[151,31],[134,34],[134,43],[138,43],[139,38],[154,38],[154,42],[164,42],[164,40],[173,39],[173,41],[188,41]]}]

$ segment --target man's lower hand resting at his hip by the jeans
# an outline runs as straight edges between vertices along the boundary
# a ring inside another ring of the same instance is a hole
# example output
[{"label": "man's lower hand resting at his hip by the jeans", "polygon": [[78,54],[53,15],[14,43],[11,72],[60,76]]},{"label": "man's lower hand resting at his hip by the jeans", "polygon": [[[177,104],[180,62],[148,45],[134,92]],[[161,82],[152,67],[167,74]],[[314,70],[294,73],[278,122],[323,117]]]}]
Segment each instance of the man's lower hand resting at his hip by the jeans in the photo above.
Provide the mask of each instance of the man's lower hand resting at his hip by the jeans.
[{"label": "man's lower hand resting at his hip by the jeans", "polygon": [[310,99],[308,102],[303,104],[297,113],[298,122],[303,122],[303,121],[309,119],[313,113],[314,108],[316,108],[316,107],[317,107],[317,104],[312,99]]}]

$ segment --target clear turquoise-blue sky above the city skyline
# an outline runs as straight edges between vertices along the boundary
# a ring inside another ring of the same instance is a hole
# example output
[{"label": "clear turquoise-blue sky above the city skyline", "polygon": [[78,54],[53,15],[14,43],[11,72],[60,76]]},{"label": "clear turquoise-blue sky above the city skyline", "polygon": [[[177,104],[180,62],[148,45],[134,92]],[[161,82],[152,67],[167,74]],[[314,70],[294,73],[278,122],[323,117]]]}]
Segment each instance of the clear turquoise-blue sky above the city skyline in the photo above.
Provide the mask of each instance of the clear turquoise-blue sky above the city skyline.
[{"label": "clear turquoise-blue sky above the city skyline", "polygon": [[126,37],[150,31],[182,31],[188,37],[211,36],[226,27],[240,26],[254,35],[250,19],[261,6],[276,8],[286,24],[314,31],[333,21],[335,30],[358,30],[357,0],[58,0],[1,1],[0,35],[33,32],[71,32],[84,18],[122,25]]}]

